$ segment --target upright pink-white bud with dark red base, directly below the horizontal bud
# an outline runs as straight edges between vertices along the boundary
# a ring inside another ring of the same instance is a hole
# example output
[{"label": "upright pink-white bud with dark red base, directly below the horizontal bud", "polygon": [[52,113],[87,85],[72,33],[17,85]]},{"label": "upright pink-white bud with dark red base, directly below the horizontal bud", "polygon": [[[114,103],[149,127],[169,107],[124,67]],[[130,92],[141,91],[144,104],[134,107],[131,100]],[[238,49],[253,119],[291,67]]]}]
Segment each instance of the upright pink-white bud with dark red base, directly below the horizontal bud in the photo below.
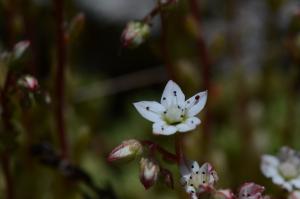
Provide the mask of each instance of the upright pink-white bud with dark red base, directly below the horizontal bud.
[{"label": "upright pink-white bud with dark red base, directly below the horizontal bud", "polygon": [[149,189],[155,184],[159,174],[158,164],[151,159],[142,158],[140,161],[140,181],[145,189]]}]

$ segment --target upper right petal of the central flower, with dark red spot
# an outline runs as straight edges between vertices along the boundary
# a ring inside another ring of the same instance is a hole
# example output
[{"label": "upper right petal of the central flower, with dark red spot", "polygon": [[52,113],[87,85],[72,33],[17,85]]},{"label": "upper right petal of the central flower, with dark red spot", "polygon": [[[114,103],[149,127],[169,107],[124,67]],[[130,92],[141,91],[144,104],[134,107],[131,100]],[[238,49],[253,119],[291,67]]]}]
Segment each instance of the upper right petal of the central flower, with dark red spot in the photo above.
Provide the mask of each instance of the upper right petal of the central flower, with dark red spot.
[{"label": "upper right petal of the central flower, with dark red spot", "polygon": [[197,115],[205,106],[207,100],[207,91],[197,93],[190,99],[186,100],[185,108],[188,116]]}]

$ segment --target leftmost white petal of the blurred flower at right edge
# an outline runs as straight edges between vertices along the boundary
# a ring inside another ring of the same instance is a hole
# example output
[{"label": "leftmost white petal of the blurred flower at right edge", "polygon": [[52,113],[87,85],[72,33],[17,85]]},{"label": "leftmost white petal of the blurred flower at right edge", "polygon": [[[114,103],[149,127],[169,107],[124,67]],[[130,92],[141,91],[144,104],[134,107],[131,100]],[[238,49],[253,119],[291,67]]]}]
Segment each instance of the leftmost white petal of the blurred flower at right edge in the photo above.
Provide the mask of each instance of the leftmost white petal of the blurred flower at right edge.
[{"label": "leftmost white petal of the blurred flower at right edge", "polygon": [[261,158],[261,171],[266,177],[279,175],[277,167],[279,160],[275,156],[263,155]]}]

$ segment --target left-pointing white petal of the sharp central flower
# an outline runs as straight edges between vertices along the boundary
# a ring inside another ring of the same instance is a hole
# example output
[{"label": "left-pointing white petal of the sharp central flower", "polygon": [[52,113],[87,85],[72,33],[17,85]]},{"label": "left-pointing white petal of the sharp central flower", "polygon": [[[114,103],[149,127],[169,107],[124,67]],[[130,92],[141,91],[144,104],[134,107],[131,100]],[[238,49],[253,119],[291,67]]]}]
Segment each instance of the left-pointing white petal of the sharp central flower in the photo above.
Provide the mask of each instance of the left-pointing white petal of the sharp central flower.
[{"label": "left-pointing white petal of the sharp central flower", "polygon": [[144,118],[151,122],[161,121],[161,115],[165,111],[160,103],[154,101],[136,102],[133,105]]}]

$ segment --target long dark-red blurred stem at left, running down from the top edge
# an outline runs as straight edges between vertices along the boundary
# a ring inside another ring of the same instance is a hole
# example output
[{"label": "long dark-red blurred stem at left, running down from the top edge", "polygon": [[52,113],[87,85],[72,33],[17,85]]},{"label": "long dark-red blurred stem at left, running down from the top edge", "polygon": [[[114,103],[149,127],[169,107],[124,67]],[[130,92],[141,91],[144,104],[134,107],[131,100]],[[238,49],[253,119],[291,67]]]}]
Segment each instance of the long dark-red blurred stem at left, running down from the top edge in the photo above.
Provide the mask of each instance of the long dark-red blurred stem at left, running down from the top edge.
[{"label": "long dark-red blurred stem at left, running down from the top edge", "polygon": [[56,68],[56,108],[55,119],[57,123],[57,133],[61,147],[61,155],[63,158],[68,156],[68,142],[66,137],[65,128],[65,59],[66,59],[66,45],[65,45],[65,32],[64,32],[64,17],[63,17],[63,0],[53,0],[55,7],[56,19],[56,37],[57,37],[57,68]]}]

